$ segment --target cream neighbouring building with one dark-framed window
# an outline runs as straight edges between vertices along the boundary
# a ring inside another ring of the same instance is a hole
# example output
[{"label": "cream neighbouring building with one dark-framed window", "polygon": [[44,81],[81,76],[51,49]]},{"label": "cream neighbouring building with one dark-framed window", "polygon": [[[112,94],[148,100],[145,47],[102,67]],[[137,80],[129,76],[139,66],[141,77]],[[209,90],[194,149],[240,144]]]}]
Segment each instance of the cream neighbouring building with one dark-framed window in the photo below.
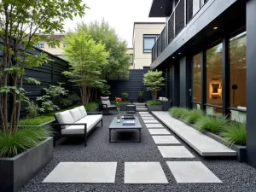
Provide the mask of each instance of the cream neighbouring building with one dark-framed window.
[{"label": "cream neighbouring building with one dark-framed window", "polygon": [[135,22],[133,27],[132,44],[134,49],[133,68],[150,67],[151,49],[159,37],[165,23],[163,22]]}]

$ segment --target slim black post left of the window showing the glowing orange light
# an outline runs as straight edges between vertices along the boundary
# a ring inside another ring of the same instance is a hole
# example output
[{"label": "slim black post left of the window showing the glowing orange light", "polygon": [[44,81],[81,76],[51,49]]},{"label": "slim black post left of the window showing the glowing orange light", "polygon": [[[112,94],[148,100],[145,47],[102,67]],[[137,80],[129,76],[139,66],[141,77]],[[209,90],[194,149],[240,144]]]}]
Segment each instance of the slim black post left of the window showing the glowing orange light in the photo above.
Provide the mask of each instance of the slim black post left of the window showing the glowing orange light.
[{"label": "slim black post left of the window showing the glowing orange light", "polygon": [[207,50],[204,49],[201,55],[201,109],[203,111],[206,111],[205,104],[207,103]]}]

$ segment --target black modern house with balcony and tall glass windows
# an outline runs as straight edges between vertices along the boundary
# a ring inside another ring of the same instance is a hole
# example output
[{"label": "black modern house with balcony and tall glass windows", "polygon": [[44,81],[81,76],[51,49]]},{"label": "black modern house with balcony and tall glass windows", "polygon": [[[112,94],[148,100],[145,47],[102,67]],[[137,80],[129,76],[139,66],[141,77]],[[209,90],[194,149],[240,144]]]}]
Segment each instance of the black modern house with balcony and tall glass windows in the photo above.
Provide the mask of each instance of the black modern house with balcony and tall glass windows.
[{"label": "black modern house with balcony and tall glass windows", "polygon": [[166,25],[152,49],[172,106],[247,122],[247,162],[256,167],[256,0],[153,0]]}]

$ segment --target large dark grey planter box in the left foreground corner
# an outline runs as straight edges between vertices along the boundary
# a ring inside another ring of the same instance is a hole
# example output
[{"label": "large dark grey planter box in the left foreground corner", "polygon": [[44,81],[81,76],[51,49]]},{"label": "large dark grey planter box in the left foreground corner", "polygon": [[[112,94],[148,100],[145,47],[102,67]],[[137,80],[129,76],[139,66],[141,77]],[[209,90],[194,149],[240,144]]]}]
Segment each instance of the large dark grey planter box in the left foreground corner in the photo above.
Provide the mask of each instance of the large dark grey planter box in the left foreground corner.
[{"label": "large dark grey planter box in the left foreground corner", "polygon": [[52,137],[13,158],[0,158],[0,191],[17,192],[52,159]]}]

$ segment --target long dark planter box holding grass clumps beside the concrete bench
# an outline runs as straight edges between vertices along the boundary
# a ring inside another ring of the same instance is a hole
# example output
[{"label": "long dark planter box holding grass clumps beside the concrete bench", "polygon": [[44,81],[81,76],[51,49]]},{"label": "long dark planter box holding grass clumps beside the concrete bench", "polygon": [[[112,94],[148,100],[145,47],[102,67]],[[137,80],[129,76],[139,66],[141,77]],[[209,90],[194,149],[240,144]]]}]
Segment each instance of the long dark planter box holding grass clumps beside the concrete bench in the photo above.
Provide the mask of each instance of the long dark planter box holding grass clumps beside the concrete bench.
[{"label": "long dark planter box holding grass clumps beside the concrete bench", "polygon": [[[170,114],[171,115],[171,114]],[[173,117],[174,118],[174,117]],[[175,118],[177,119],[177,118]],[[188,122],[184,121],[183,119],[178,119],[180,121],[182,121],[184,124],[187,124],[189,126],[191,126],[192,128],[196,129],[196,126],[193,124],[189,124]],[[241,145],[236,145],[236,144],[230,144],[228,143],[226,140],[224,140],[223,137],[220,137],[212,132],[209,131],[204,131],[202,132],[203,134],[207,135],[208,137],[211,137],[212,139],[214,139],[215,141],[217,141],[218,143],[222,143],[225,146],[232,148],[234,151],[236,151],[237,153],[237,160],[239,162],[246,162],[247,161],[247,147],[246,146],[241,146]]]}]

